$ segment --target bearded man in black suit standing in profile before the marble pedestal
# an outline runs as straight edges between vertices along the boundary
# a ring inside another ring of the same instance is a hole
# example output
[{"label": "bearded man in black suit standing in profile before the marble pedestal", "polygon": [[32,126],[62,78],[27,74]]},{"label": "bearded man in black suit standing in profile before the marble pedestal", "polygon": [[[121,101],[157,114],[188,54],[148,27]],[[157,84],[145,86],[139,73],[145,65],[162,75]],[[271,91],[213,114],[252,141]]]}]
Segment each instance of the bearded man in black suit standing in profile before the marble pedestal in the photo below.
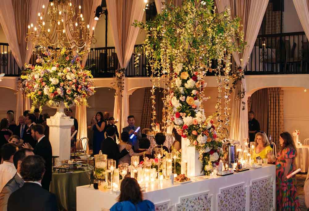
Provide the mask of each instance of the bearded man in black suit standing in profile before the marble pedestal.
[{"label": "bearded man in black suit standing in profile before the marble pedestal", "polygon": [[[49,139],[44,135],[44,127],[40,124],[31,126],[31,134],[34,140],[37,141],[33,152],[35,155],[40,155],[45,160],[46,170],[42,179],[42,187],[49,191],[49,184],[52,180],[52,145]],[[32,148],[28,143],[23,144],[25,148]]]}]

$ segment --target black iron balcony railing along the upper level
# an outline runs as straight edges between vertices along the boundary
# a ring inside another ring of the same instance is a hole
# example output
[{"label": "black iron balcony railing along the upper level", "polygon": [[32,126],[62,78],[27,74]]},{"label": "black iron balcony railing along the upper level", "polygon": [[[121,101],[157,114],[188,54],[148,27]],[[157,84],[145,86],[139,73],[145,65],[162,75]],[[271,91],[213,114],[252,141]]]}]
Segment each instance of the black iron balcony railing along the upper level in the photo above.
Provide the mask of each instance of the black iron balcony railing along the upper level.
[{"label": "black iron balcony railing along the upper level", "polygon": [[[35,48],[34,52],[42,54],[40,48]],[[140,53],[137,67],[134,64],[136,52]],[[36,54],[32,55],[30,64],[36,63]],[[232,68],[237,68],[235,62],[232,64]],[[125,71],[126,77],[149,77],[150,71],[147,71],[146,65],[147,59],[142,45],[135,45]],[[120,68],[115,47],[92,48],[86,66],[91,66],[94,77],[115,76],[115,71]],[[258,35],[244,72],[246,75],[308,74],[309,43],[305,33]],[[0,73],[7,76],[20,74],[7,43],[0,43]]]}]

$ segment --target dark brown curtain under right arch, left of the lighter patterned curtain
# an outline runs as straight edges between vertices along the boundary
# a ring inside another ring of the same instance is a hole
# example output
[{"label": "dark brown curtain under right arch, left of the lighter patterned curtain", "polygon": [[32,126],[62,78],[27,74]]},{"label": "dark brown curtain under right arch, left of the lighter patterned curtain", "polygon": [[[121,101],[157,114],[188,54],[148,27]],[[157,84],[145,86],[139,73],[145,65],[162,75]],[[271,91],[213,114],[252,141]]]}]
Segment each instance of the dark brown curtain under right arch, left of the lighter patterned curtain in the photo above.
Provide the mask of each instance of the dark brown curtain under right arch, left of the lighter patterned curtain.
[{"label": "dark brown curtain under right arch, left of the lighter patterned curtain", "polygon": [[251,107],[255,114],[255,118],[260,123],[260,128],[267,132],[268,121],[268,91],[267,89],[259,89],[251,96]]}]

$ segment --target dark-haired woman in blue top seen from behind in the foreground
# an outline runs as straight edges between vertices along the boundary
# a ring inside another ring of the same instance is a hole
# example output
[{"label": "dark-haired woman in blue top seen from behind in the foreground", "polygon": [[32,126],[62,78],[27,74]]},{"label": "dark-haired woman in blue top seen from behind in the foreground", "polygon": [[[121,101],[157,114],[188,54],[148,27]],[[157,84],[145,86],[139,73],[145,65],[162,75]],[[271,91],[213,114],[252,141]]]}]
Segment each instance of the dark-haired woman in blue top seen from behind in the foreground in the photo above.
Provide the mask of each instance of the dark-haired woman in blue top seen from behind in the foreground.
[{"label": "dark-haired woman in blue top seen from behind in the foreground", "polygon": [[136,179],[126,177],[121,182],[118,202],[110,211],[155,211],[155,205],[143,200],[141,188]]}]

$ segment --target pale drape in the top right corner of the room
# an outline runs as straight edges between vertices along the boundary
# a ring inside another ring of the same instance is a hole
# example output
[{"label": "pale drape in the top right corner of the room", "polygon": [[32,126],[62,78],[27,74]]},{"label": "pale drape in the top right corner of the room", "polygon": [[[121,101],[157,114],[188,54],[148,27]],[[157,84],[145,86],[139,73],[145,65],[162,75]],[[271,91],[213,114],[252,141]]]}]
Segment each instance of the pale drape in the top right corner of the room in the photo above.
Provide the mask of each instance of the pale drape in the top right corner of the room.
[{"label": "pale drape in the top right corner of the room", "polygon": [[305,31],[307,38],[309,38],[309,0],[293,0],[294,6]]}]

